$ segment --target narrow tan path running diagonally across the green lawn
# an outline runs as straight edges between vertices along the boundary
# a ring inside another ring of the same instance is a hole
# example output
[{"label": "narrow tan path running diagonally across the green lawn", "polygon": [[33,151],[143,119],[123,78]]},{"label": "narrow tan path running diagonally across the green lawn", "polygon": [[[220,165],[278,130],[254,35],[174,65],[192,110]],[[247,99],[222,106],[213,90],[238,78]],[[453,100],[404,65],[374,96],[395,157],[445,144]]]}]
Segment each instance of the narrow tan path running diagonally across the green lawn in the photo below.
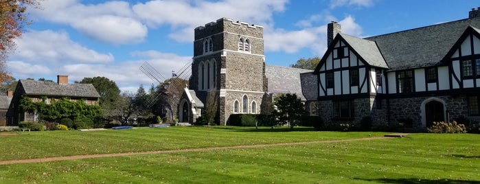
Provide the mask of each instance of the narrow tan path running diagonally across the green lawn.
[{"label": "narrow tan path running diagonally across the green lawn", "polygon": [[270,143],[270,144],[255,144],[255,145],[240,145],[240,146],[225,146],[225,147],[209,147],[209,148],[187,148],[181,150],[158,150],[158,151],[148,151],[148,152],[122,152],[122,153],[111,153],[111,154],[86,154],[86,155],[74,155],[67,157],[49,157],[41,159],[21,159],[21,160],[10,160],[10,161],[0,161],[0,165],[10,165],[16,163],[42,163],[50,161],[67,161],[67,160],[77,160],[77,159],[92,159],[92,158],[102,158],[102,157],[122,157],[122,156],[132,156],[139,154],[161,154],[161,153],[170,153],[170,152],[197,152],[205,150],[222,150],[222,149],[235,149],[235,148],[258,148],[265,146],[286,146],[286,145],[301,145],[309,143],[335,143],[335,142],[346,142],[346,141],[366,141],[366,140],[376,140],[376,139],[393,139],[394,137],[368,137],[368,138],[359,138],[359,139],[341,139],[341,140],[330,140],[330,141],[307,141],[307,142],[295,142],[295,143]]}]

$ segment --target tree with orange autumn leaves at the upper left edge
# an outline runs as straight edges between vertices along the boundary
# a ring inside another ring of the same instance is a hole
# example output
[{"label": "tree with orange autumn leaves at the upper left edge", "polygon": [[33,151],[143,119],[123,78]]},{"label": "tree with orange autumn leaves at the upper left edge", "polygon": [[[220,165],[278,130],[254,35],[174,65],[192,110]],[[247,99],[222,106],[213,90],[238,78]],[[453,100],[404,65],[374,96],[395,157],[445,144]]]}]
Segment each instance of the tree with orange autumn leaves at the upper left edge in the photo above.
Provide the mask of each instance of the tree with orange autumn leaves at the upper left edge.
[{"label": "tree with orange autumn leaves at the upper left edge", "polygon": [[8,54],[15,49],[14,39],[22,35],[27,6],[38,8],[41,0],[0,0],[0,85],[11,78],[5,69]]}]

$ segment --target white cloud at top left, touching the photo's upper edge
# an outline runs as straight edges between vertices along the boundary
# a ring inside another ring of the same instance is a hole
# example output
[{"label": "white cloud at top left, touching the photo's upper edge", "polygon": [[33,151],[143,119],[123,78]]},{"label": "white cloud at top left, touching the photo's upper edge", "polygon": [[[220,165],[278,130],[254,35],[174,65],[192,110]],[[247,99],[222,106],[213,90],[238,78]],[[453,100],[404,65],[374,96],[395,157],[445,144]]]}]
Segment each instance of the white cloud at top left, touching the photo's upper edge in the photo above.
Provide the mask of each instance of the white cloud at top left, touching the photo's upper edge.
[{"label": "white cloud at top left, touching the photo's upper edge", "polygon": [[42,9],[32,9],[37,19],[70,25],[97,41],[115,45],[139,43],[148,34],[146,25],[134,19],[126,1],[83,5],[74,0],[42,1]]}]

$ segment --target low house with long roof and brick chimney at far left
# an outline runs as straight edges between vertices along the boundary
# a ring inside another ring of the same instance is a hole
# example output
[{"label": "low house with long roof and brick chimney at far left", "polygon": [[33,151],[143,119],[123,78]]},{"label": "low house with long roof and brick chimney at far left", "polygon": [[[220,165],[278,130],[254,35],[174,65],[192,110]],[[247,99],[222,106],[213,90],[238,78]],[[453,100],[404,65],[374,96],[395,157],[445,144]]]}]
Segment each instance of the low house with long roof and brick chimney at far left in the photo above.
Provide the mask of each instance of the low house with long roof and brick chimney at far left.
[{"label": "low house with long roof and brick chimney at far left", "polygon": [[98,105],[98,94],[92,84],[69,84],[68,76],[57,76],[57,82],[19,80],[12,95],[12,102],[6,114],[7,125],[16,126],[19,122],[38,122],[38,114],[21,111],[21,96],[30,97],[33,102],[44,100],[46,104],[52,100],[67,97],[69,100],[82,100],[85,104]]}]

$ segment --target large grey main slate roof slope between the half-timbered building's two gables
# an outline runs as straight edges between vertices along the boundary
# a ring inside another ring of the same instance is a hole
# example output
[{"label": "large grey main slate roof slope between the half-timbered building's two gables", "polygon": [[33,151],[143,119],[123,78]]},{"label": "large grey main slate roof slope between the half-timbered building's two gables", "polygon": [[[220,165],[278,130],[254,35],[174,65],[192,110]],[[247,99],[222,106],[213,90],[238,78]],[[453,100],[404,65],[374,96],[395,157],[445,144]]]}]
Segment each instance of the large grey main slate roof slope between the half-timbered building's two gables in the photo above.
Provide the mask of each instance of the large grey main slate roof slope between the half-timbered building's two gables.
[{"label": "large grey main slate roof slope between the half-timbered building's two gables", "polygon": [[389,70],[441,65],[468,26],[480,27],[480,16],[364,38],[374,41]]}]

